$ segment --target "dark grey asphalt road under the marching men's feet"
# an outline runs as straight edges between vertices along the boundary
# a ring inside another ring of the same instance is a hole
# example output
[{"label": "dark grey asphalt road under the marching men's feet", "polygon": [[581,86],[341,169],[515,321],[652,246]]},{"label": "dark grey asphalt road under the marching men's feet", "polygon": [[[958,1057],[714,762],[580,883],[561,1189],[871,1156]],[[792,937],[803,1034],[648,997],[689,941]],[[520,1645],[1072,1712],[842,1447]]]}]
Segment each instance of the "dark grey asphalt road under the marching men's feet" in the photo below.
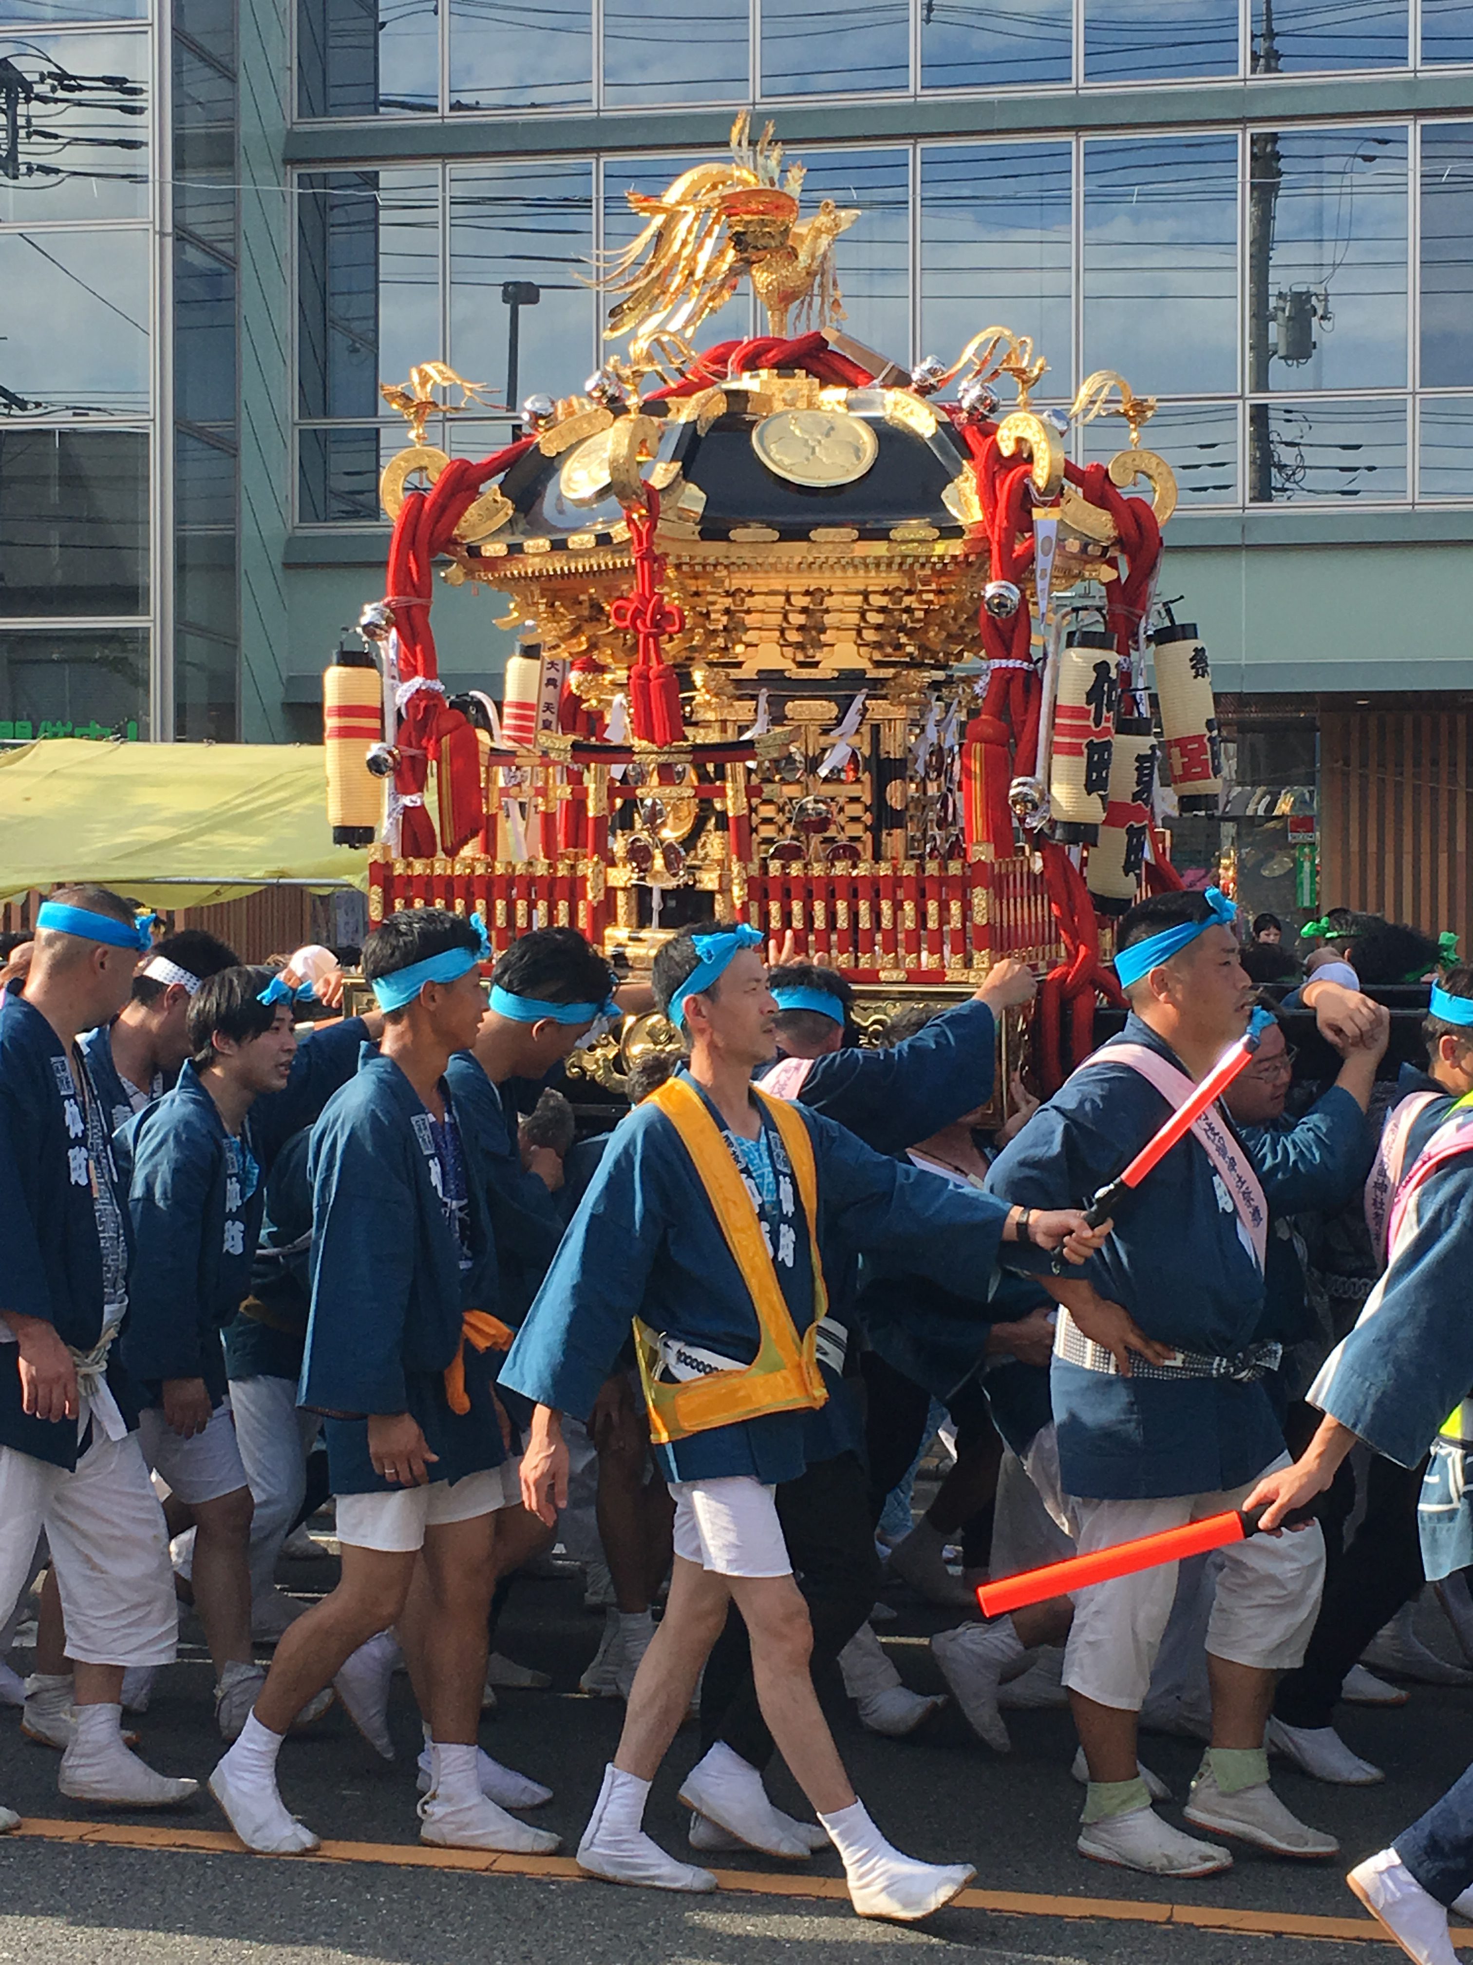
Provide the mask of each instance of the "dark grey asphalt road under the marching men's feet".
[{"label": "dark grey asphalt road under the marching men's feet", "polygon": [[[291,1564],[283,1578],[300,1594],[330,1586],[332,1564]],[[949,1617],[896,1596],[901,1615],[884,1625],[907,1682],[941,1690],[925,1633]],[[501,1647],[554,1674],[550,1692],[503,1692],[487,1717],[483,1743],[499,1759],[556,1788],[538,1822],[556,1827],[572,1853],[597,1792],[623,1708],[575,1692],[591,1656],[599,1615],[583,1611],[570,1580],[518,1582],[501,1629]],[[194,1633],[196,1637],[198,1633]],[[24,1662],[18,1660],[18,1662]],[[210,1674],[196,1645],[187,1645],[141,1719],[143,1749],[167,1772],[208,1774],[218,1757],[208,1702]],[[1200,1912],[1259,1912],[1279,1918],[1359,1920],[1343,1886],[1343,1869],[1385,1845],[1467,1765],[1473,1694],[1416,1688],[1398,1710],[1345,1710],[1343,1733],[1391,1770],[1385,1786],[1326,1788],[1296,1774],[1279,1776],[1284,1800],[1306,1820],[1332,1829],[1345,1861],[1277,1863],[1241,1849],[1226,1877],[1157,1884],[1125,1871],[1086,1863],[1074,1851],[1080,1790],[1068,1778],[1072,1727],[1061,1712],[1011,1713],[1013,1753],[994,1757],[972,1741],[947,1710],[919,1737],[894,1743],[864,1733],[850,1713],[837,1717],[841,1747],[858,1792],[901,1847],[935,1861],[976,1865],[976,1888],[1025,1892],[1045,1900],[1033,1914],[951,1908],[923,1932],[856,1922],[841,1902],[766,1894],[764,1877],[784,1869],[770,1859],[723,1857],[748,1871],[756,1894],[668,1898],[597,1882],[520,1875],[446,1873],[393,1863],[281,1861],[194,1849],[134,1849],[59,1839],[57,1833],[0,1841],[0,1965],[442,1965],[442,1961],[672,1961],[672,1965],[766,1965],[770,1959],[833,1965],[890,1965],[955,1955],[988,1965],[1239,1965],[1263,1957],[1294,1965],[1349,1965],[1367,1953],[1345,1937],[1298,1937],[1279,1930],[1198,1930],[1163,1920],[1167,1906]],[[412,1765],[418,1725],[407,1680],[395,1682],[399,1759],[379,1761],[340,1712],[283,1751],[281,1784],[289,1806],[320,1835],[344,1843],[416,1849]],[[1186,1739],[1147,1737],[1143,1757],[1180,1798],[1200,1747]],[[648,1827],[670,1849],[683,1849],[680,1774],[697,1757],[695,1731],[683,1729],[668,1770],[656,1782]],[[18,1715],[0,1712],[0,1800],[39,1822],[96,1822],[55,1788],[57,1757],[20,1737]],[[803,1810],[786,1774],[778,1798]],[[1167,1812],[1173,1814],[1171,1804]],[[177,1816],[110,1816],[110,1824],[153,1829],[222,1831],[224,1820],[204,1796]],[[837,1857],[817,1857],[801,1875],[837,1879]],[[1068,1916],[1066,1902],[1108,1898],[1114,1918]],[[1053,1902],[1047,1902],[1053,1900]],[[1139,1908],[1135,1908],[1139,1906]],[[1161,1906],[1161,1908],[1149,1908]],[[1133,1914],[1131,1914],[1133,1912]],[[1367,1936],[1373,1932],[1363,1924]],[[835,1949],[846,1947],[846,1949]]]}]

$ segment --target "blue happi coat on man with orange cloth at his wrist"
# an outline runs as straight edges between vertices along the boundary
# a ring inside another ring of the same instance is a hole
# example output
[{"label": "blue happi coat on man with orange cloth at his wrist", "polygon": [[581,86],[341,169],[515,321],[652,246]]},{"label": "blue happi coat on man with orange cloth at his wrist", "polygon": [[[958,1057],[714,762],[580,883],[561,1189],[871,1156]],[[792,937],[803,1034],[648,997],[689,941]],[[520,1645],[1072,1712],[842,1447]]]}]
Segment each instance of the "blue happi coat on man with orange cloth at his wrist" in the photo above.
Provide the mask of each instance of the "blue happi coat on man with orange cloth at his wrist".
[{"label": "blue happi coat on man with orange cloth at his wrist", "polygon": [[[448,1110],[454,1100],[440,1087]],[[300,1403],[328,1415],[334,1493],[389,1493],[369,1462],[367,1415],[412,1413],[432,1480],[456,1482],[507,1456],[493,1401],[499,1352],[465,1346],[469,1413],[450,1411],[446,1366],[462,1313],[495,1291],[485,1195],[467,1179],[471,1267],[446,1218],[430,1114],[393,1059],[369,1047],[357,1077],[312,1130],[312,1313]],[[469,1151],[467,1151],[469,1169]]]}]

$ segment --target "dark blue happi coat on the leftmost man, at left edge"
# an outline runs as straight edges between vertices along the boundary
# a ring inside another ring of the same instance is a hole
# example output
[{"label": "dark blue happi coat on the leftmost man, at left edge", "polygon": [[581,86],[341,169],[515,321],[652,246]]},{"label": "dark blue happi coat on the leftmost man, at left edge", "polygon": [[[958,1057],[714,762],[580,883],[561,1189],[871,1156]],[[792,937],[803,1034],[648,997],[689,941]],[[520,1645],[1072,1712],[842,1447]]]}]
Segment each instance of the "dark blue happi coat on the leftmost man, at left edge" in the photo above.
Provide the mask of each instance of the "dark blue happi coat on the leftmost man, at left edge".
[{"label": "dark blue happi coat on the leftmost man, at left edge", "polygon": [[[88,1091],[96,1096],[90,1081]],[[98,1167],[96,1177],[112,1179],[112,1167]],[[128,1234],[128,1197],[120,1185],[114,1191]],[[81,1098],[57,1034],[14,990],[0,998],[0,1309],[43,1319],[77,1352],[92,1350],[102,1334],[102,1248]],[[132,1423],[137,1397],[116,1344],[108,1387]],[[4,1342],[0,1446],[77,1466],[77,1427],[26,1415],[20,1356]]]}]

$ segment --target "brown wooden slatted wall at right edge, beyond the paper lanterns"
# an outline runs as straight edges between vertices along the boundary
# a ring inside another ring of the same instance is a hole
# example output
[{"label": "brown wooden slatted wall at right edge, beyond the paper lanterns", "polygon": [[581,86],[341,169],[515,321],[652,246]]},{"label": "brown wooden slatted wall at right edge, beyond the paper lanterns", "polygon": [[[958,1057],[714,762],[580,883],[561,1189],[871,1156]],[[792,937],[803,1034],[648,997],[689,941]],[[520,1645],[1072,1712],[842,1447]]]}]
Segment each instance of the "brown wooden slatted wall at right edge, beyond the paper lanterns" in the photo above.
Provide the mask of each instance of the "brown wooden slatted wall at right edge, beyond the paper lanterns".
[{"label": "brown wooden slatted wall at right edge, beyond the paper lanterns", "polygon": [[1473,929],[1473,711],[1324,709],[1320,902]]}]

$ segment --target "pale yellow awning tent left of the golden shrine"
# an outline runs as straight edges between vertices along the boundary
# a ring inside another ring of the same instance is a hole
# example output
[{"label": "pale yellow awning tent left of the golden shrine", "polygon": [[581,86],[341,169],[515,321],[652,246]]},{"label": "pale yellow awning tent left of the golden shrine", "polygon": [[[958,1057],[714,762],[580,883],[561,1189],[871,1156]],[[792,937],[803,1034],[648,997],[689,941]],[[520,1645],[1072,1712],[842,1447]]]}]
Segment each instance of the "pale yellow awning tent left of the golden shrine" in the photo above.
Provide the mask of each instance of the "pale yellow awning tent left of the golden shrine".
[{"label": "pale yellow awning tent left of the golden shrine", "polygon": [[320,745],[88,743],[0,751],[0,898],[96,880],[151,908],[257,886],[367,884],[334,847]]}]

